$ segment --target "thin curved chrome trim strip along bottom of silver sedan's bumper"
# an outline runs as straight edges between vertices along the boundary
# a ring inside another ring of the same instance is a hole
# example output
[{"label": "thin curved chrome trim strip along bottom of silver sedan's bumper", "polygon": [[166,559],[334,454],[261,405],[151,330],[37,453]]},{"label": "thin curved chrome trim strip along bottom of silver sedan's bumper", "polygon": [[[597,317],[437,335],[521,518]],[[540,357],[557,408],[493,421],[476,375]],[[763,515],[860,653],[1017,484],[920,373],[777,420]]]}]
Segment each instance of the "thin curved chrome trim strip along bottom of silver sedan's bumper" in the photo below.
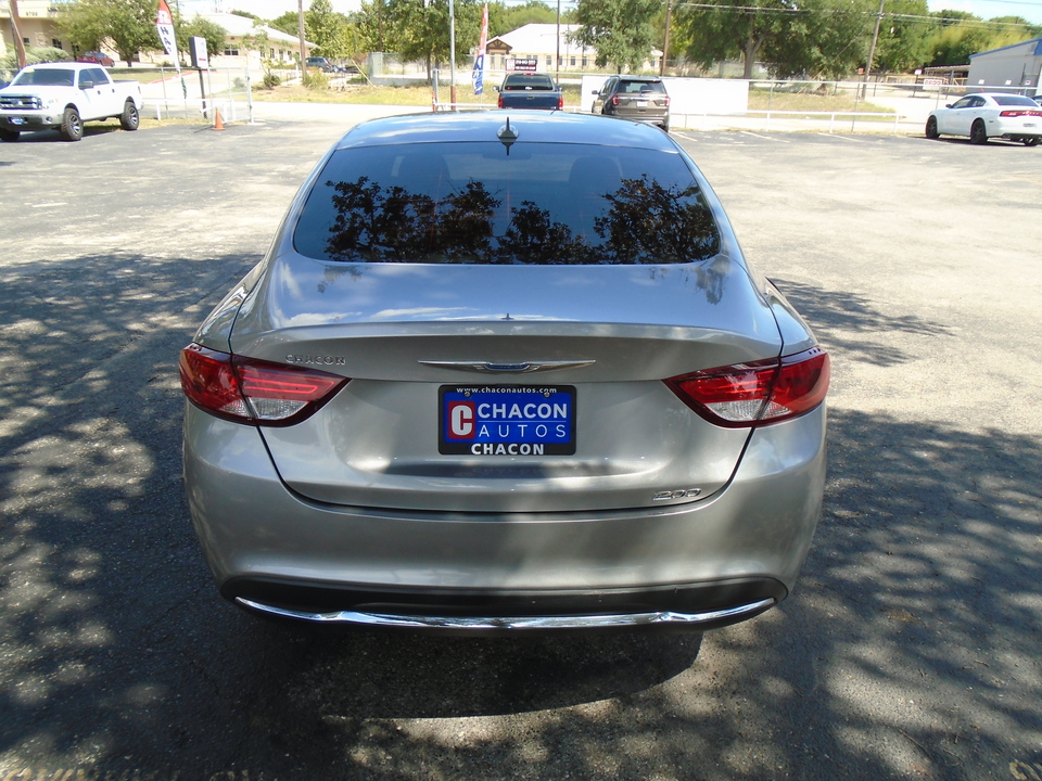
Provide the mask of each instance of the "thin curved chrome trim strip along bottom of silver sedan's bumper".
[{"label": "thin curved chrome trim strip along bottom of silver sedan's bumper", "polygon": [[236,602],[243,607],[297,620],[317,624],[354,624],[371,627],[402,627],[410,629],[472,629],[475,631],[487,629],[597,629],[609,627],[640,627],[640,626],[688,626],[698,627],[716,622],[737,620],[751,613],[759,613],[775,604],[772,598],[750,602],[749,604],[726,610],[707,611],[704,613],[674,613],[661,611],[655,613],[633,613],[620,615],[567,615],[567,616],[512,616],[500,618],[470,617],[470,616],[407,616],[389,615],[384,613],[365,613],[361,611],[338,611],[334,613],[305,613],[284,607],[266,605],[243,597],[237,597]]}]

